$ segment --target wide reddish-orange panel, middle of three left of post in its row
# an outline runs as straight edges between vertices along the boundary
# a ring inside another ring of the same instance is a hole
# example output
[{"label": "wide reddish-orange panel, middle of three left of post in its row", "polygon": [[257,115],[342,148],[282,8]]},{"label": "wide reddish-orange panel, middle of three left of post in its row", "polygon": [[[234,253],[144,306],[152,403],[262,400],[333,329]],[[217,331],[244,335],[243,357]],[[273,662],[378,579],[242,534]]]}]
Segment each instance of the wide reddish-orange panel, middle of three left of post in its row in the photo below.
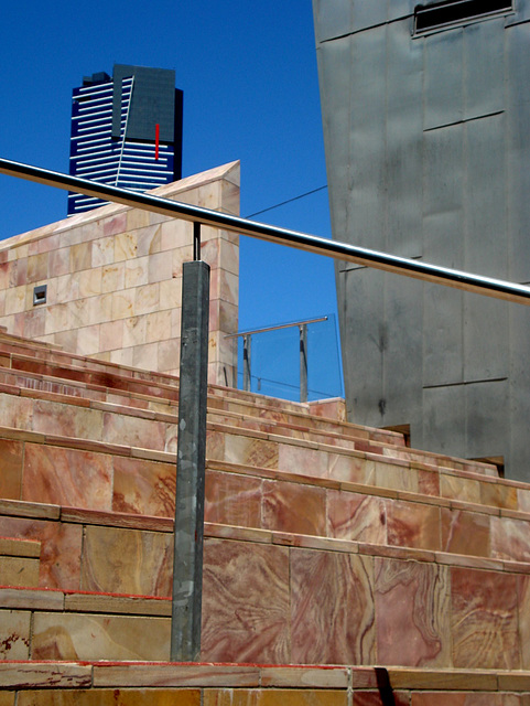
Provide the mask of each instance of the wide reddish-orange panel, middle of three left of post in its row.
[{"label": "wide reddish-orange panel, middle of three left of post in its row", "polygon": [[22,500],[108,511],[111,498],[109,454],[25,445]]}]

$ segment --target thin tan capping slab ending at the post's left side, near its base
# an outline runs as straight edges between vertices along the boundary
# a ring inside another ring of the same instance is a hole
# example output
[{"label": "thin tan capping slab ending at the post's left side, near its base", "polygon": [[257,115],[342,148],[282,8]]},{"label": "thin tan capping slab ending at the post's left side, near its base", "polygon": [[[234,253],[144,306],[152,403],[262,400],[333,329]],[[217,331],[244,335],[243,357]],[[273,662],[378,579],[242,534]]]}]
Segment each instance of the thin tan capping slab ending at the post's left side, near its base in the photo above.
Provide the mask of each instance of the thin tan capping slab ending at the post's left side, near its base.
[{"label": "thin tan capping slab ending at the post's left side, near its base", "polygon": [[65,610],[76,612],[126,613],[130,616],[171,616],[171,600],[108,593],[67,593]]}]

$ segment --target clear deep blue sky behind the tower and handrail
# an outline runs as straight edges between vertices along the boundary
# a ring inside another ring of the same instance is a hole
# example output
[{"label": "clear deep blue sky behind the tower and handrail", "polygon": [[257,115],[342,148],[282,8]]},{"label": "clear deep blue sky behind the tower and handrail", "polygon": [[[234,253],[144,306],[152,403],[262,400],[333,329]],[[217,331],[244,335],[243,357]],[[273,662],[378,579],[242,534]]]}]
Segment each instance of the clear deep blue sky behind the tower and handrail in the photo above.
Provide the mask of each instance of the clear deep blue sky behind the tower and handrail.
[{"label": "clear deep blue sky behind the tower and handrail", "polygon": [[[311,0],[19,0],[0,29],[0,156],[67,171],[72,88],[115,63],[174,68],[183,174],[241,160],[241,215],[326,184]],[[0,239],[66,192],[0,175]],[[331,237],[327,190],[257,216]],[[336,311],[333,263],[241,239],[240,329]]]}]

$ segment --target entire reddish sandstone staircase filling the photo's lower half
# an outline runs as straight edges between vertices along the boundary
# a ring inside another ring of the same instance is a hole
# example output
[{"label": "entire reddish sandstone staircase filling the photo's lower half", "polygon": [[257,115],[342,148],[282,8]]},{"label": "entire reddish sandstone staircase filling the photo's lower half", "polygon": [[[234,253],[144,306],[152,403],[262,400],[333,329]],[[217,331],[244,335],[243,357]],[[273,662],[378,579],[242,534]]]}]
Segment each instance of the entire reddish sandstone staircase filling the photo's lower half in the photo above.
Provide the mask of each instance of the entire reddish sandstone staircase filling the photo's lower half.
[{"label": "entire reddish sandstone staircase filling the photo's lower half", "polygon": [[530,705],[530,486],[339,400],[209,388],[202,662],[169,663],[177,404],[0,333],[0,706]]}]

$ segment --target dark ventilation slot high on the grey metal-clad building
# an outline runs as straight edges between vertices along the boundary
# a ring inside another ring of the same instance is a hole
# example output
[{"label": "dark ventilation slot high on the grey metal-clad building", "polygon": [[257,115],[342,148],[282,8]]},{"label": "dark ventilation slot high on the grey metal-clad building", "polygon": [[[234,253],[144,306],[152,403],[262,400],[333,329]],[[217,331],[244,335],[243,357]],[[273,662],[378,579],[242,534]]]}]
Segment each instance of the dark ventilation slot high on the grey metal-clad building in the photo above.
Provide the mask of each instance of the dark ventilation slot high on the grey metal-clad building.
[{"label": "dark ventilation slot high on the grey metal-clad building", "polygon": [[436,4],[418,6],[414,10],[415,32],[428,32],[468,20],[510,12],[512,2],[507,0],[454,0]]}]

